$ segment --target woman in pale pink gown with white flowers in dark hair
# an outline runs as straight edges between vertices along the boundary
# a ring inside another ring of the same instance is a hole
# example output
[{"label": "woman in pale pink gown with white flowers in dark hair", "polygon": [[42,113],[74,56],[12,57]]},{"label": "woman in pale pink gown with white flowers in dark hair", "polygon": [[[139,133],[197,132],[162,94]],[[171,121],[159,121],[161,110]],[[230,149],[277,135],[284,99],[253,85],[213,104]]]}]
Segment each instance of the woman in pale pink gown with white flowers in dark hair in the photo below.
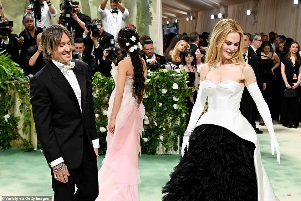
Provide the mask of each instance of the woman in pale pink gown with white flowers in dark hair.
[{"label": "woman in pale pink gown with white flowers in dark hair", "polygon": [[145,92],[146,65],[140,58],[139,35],[134,28],[121,28],[118,44],[127,53],[118,68],[112,64],[115,81],[107,116],[107,151],[98,171],[97,201],[139,200],[138,153],[145,113],[142,99]]}]

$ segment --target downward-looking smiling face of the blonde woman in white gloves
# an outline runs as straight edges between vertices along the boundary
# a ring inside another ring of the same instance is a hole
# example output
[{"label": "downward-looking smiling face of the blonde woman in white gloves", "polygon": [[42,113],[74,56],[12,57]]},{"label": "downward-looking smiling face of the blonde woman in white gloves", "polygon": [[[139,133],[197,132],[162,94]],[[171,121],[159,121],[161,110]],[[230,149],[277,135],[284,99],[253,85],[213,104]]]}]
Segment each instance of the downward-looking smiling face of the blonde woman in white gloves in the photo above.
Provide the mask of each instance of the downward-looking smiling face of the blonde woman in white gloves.
[{"label": "downward-looking smiling face of the blonde woman in white gloves", "polygon": [[237,32],[229,33],[222,45],[222,59],[231,59],[238,49],[240,36]]}]

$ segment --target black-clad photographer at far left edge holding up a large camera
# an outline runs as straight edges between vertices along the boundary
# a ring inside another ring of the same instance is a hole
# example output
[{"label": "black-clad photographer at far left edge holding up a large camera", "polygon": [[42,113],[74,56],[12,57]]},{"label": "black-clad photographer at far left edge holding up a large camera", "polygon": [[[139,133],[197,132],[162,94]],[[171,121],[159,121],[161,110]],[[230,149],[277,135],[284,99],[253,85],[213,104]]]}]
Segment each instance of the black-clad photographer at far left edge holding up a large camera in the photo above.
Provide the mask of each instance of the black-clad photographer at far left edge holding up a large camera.
[{"label": "black-clad photographer at far left edge holding up a large camera", "polygon": [[[0,22],[0,24],[3,24],[8,21],[8,18],[1,18],[1,21],[2,23]],[[0,51],[5,50],[4,54],[8,53],[9,55],[11,55],[10,59],[19,64],[19,47],[17,44],[17,39],[15,38],[18,37],[18,35],[12,34],[12,26],[0,27],[9,29],[7,34],[0,35]]]}]

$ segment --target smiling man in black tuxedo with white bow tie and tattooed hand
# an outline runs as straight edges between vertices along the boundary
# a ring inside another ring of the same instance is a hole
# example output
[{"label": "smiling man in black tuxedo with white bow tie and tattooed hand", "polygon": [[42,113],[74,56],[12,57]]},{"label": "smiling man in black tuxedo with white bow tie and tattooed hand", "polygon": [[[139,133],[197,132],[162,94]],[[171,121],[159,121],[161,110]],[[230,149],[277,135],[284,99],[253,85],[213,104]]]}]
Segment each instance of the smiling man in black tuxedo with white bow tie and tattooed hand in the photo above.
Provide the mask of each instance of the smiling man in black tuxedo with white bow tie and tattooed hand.
[{"label": "smiling man in black tuxedo with white bow tie and tattooed hand", "polygon": [[[33,119],[51,167],[54,200],[95,200],[97,147],[91,71],[72,60],[73,39],[62,25],[42,34],[47,64],[30,81]],[[74,195],[75,184],[78,193]]]}]

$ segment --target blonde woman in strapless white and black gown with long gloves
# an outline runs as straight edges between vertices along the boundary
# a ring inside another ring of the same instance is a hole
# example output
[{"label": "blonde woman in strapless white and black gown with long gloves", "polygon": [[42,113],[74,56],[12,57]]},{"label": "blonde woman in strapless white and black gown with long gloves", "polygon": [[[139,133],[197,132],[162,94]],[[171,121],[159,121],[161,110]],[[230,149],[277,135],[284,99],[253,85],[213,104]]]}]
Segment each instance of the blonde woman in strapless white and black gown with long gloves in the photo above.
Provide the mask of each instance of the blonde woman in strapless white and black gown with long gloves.
[{"label": "blonde woman in strapless white and black gown with long gloves", "polygon": [[[279,201],[263,167],[258,137],[239,111],[244,86],[280,147],[252,67],[242,58],[243,32],[232,19],[213,29],[200,86],[182,144],[182,158],[163,187],[164,201]],[[208,111],[200,117],[206,97]]]}]

